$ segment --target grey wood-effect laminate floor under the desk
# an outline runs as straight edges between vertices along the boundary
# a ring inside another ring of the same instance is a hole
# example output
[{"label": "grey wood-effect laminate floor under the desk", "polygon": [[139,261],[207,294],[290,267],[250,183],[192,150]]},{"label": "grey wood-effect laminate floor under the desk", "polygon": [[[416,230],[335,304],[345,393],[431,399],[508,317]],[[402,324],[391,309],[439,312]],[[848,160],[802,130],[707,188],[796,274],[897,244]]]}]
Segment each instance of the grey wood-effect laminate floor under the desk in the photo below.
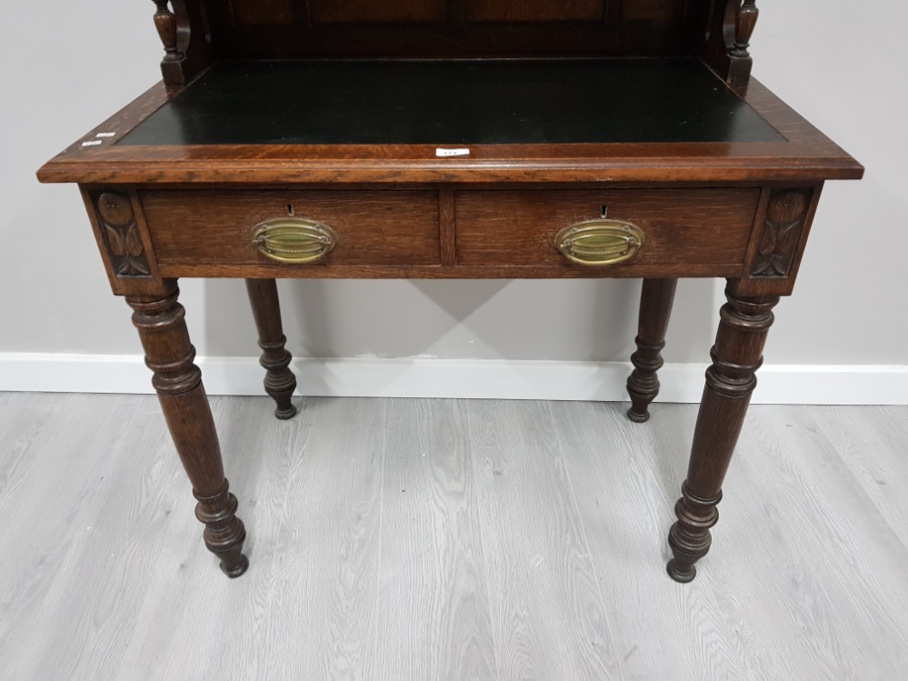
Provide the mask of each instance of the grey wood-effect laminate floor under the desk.
[{"label": "grey wood-effect laminate floor under the desk", "polygon": [[0,394],[0,677],[908,678],[908,408],[754,406],[682,586],[693,406],[212,402],[234,581],[154,397]]}]

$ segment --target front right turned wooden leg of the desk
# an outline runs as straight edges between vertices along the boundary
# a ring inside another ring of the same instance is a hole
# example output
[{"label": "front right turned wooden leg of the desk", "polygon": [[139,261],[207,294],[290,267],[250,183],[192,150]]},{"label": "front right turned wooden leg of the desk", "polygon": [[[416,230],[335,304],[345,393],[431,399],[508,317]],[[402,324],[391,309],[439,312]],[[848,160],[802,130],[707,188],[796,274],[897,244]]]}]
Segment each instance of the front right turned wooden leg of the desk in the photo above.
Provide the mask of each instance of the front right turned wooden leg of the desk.
[{"label": "front right turned wooden leg of the desk", "polygon": [[674,559],[668,574],[676,582],[696,576],[694,564],[709,551],[710,527],[719,520],[722,482],[741,435],[744,416],[763,364],[763,345],[773,325],[776,297],[742,298],[725,290],[719,331],[713,346],[713,366],[706,370],[706,387],[693,433],[691,461],[682,497],[674,506],[678,522],[668,535]]}]

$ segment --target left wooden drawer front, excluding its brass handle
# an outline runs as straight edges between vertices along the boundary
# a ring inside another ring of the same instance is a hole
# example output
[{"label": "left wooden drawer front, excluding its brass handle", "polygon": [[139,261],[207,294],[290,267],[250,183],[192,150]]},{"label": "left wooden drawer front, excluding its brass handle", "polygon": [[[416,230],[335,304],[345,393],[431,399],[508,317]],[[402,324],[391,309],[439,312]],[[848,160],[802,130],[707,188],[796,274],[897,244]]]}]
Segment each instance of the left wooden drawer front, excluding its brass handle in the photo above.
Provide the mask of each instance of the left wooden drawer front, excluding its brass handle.
[{"label": "left wooden drawer front, excluding its brass handle", "polygon": [[269,220],[327,225],[336,243],[316,263],[438,265],[438,195],[394,190],[146,190],[140,192],[161,265],[274,265],[254,244]]}]

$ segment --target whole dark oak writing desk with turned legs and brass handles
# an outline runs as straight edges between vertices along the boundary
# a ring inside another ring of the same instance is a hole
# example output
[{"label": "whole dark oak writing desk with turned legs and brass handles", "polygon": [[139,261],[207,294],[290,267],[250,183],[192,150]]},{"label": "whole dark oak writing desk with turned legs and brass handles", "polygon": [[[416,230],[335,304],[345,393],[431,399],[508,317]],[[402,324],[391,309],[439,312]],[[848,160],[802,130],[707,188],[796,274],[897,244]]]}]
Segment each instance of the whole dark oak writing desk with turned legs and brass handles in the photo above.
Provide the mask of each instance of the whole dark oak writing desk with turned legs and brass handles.
[{"label": "whole dark oak writing desk with turned legs and brass handles", "polygon": [[823,182],[863,168],[750,78],[753,0],[156,2],[164,82],[45,165],[76,182],[198,499],[244,573],[180,277],[243,277],[291,418],[277,277],[641,277],[643,422],[679,277],[723,277],[678,581],[709,550]]}]

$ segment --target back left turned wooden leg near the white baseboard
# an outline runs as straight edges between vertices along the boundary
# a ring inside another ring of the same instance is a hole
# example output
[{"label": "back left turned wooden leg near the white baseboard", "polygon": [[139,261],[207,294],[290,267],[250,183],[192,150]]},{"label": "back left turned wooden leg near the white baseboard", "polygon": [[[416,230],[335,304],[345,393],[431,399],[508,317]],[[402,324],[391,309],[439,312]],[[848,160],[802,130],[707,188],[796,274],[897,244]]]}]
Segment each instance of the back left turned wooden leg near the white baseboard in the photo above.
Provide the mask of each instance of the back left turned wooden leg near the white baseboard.
[{"label": "back left turned wooden leg near the white baseboard", "polygon": [[277,284],[274,279],[246,279],[246,291],[258,329],[258,346],[263,351],[260,361],[265,369],[264,390],[277,403],[274,416],[293,418],[296,407],[290,400],[296,389],[296,376],[288,368],[293,356],[284,348],[287,337],[281,324]]}]

